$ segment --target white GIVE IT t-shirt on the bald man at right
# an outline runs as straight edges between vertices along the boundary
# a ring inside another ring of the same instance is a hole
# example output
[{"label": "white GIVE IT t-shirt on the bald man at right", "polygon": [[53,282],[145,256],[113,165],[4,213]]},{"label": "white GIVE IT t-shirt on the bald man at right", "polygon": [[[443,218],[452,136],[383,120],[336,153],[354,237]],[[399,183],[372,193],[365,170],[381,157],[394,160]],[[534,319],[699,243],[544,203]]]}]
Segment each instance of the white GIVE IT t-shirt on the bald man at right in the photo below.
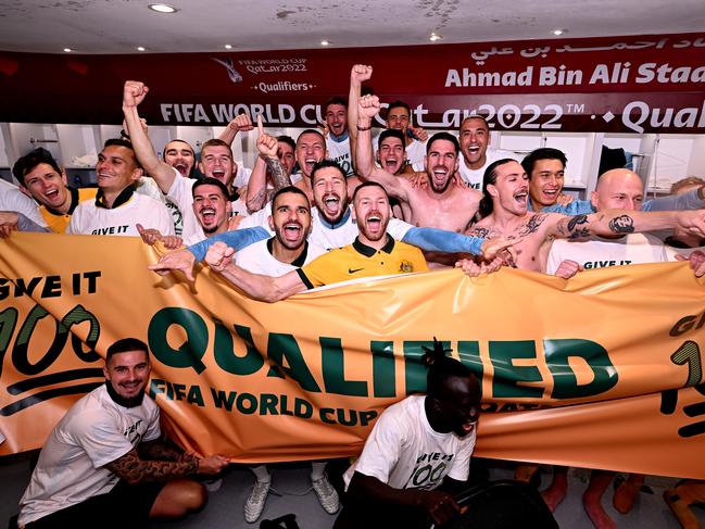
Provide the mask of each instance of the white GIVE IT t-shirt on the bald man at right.
[{"label": "white GIVE IT t-shirt on the bald man at right", "polygon": [[565,260],[579,263],[586,270],[628,264],[664,263],[668,261],[664,243],[649,234],[629,234],[620,239],[592,237],[584,241],[553,241],[546,274],[555,275]]}]

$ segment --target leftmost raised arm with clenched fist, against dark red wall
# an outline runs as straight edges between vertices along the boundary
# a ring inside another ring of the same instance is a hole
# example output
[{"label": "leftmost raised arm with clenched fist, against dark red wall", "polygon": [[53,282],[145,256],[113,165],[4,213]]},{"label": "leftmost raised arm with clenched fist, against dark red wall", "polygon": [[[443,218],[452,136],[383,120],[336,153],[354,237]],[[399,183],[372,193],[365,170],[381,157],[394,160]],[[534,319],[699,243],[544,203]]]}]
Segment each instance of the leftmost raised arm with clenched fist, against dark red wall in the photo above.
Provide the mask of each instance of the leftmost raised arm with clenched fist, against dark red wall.
[{"label": "leftmost raised arm with clenched fist, against dark red wall", "polygon": [[166,193],[176,178],[176,173],[172,166],[159,159],[152,141],[139,122],[137,106],[144,100],[147,92],[149,92],[149,87],[143,83],[126,80],[123,88],[123,114],[137,160],[144,171],[154,178],[162,192]]}]

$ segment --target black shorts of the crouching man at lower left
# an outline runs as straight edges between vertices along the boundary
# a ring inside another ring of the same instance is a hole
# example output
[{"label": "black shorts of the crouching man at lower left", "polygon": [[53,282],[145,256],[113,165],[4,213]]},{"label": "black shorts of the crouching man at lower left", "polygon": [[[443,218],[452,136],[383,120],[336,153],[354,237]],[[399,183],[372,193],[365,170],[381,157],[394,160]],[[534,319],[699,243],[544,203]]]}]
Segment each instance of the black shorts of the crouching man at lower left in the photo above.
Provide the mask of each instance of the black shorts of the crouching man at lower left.
[{"label": "black shorts of the crouching man at lower left", "polygon": [[62,508],[32,521],[25,529],[119,528],[129,529],[144,525],[156,496],[166,482],[128,484],[119,481],[106,494],[89,497],[85,502]]}]

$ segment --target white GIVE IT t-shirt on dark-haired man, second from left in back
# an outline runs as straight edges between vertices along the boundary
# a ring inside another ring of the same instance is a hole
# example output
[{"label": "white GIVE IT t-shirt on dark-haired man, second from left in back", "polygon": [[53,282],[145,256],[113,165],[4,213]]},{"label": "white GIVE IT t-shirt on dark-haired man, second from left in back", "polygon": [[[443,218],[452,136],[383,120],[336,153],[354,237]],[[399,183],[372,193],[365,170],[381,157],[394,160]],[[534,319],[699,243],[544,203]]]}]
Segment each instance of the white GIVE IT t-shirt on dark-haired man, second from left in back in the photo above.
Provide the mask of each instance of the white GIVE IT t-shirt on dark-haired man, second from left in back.
[{"label": "white GIVE IT t-shirt on dark-haired man, second from left in back", "polygon": [[95,200],[83,201],[74,210],[66,234],[139,237],[137,224],[174,235],[174,221],[166,206],[139,193],[133,193],[127,202],[112,210],[98,207]]}]

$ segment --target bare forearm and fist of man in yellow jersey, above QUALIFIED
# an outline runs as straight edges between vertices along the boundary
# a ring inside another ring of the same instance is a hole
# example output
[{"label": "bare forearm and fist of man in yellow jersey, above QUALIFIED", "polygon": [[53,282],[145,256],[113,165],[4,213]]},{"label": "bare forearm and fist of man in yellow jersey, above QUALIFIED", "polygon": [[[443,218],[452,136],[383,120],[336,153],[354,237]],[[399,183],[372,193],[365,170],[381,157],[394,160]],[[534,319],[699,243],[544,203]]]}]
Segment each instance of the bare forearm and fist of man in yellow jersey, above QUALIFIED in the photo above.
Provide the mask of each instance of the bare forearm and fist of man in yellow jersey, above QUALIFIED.
[{"label": "bare forearm and fist of man in yellow jersey, above QUALIFIED", "polygon": [[297,270],[280,277],[269,277],[247,272],[232,262],[235,250],[224,242],[216,242],[205,255],[206,264],[234,287],[257,301],[274,303],[306,290]]}]

